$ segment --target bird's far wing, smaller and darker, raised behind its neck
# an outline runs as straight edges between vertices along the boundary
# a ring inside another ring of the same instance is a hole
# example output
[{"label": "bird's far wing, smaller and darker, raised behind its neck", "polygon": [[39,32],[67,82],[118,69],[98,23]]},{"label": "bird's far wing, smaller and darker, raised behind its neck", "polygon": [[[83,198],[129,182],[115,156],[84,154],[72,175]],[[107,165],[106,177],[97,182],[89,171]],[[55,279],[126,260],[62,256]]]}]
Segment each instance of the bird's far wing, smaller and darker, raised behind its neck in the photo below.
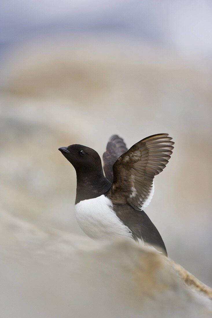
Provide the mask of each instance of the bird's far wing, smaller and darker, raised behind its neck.
[{"label": "bird's far wing, smaller and darker, raised behind its neck", "polygon": [[127,151],[125,142],[118,135],[113,135],[107,144],[106,151],[103,153],[103,168],[106,178],[113,182],[113,164],[124,152]]}]

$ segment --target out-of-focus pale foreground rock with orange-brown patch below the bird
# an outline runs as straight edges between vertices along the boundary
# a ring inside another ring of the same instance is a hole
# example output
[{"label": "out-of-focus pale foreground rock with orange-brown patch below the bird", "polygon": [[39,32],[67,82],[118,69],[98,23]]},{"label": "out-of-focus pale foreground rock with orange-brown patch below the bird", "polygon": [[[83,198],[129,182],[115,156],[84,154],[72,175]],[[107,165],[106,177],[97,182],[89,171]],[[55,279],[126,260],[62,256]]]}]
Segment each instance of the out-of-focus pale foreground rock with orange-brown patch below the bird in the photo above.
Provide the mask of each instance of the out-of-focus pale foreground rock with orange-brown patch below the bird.
[{"label": "out-of-focus pale foreground rock with orange-brown patch below the bird", "polygon": [[44,232],[1,213],[3,317],[211,317],[166,258],[130,241]]}]

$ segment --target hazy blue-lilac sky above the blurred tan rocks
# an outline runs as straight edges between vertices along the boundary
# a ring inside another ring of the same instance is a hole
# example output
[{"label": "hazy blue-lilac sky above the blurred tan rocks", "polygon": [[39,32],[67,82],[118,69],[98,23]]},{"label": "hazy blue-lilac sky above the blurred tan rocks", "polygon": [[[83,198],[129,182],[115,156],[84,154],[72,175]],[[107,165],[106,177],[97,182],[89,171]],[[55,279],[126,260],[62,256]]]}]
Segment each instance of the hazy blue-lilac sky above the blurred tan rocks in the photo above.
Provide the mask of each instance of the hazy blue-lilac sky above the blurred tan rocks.
[{"label": "hazy blue-lilac sky above the blurred tan rocks", "polygon": [[0,46],[39,36],[107,32],[173,46],[181,52],[212,53],[209,0],[4,0]]}]

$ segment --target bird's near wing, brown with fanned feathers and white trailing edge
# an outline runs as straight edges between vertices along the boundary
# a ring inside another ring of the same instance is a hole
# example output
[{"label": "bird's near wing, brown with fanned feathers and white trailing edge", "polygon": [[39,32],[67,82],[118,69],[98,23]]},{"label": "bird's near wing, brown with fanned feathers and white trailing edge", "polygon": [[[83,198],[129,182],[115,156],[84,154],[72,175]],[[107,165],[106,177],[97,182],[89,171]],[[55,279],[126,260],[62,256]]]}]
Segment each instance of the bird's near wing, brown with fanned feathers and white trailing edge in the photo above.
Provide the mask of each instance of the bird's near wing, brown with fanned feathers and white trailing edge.
[{"label": "bird's near wing, brown with fanned feathers and white trailing edge", "polygon": [[113,165],[113,184],[108,196],[115,203],[129,203],[136,210],[149,204],[154,176],[166,167],[174,142],[168,134],[147,137],[120,156]]}]

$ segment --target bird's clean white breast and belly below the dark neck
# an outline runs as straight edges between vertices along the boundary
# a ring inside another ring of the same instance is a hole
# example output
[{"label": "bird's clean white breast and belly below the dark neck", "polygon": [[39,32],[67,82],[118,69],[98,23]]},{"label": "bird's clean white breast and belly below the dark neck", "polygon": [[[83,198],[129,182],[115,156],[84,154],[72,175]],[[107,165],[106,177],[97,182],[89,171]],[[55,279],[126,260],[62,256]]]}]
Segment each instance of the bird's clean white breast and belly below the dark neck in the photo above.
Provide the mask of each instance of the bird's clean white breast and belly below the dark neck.
[{"label": "bird's clean white breast and belly below the dark neck", "polygon": [[75,215],[82,231],[92,239],[132,238],[130,229],[117,217],[112,202],[104,195],[77,203]]}]

